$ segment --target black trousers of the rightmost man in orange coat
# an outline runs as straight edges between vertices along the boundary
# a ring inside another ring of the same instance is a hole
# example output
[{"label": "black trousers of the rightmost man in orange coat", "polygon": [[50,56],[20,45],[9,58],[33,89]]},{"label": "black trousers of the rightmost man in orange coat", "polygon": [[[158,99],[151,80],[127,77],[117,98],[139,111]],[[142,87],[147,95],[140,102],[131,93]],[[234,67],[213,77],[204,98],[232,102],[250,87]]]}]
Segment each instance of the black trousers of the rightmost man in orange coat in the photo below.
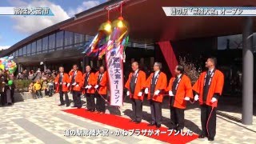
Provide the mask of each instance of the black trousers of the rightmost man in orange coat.
[{"label": "black trousers of the rightmost man in orange coat", "polygon": [[[202,134],[208,138],[214,138],[216,134],[216,108],[201,106]],[[209,134],[208,134],[209,133]]]}]

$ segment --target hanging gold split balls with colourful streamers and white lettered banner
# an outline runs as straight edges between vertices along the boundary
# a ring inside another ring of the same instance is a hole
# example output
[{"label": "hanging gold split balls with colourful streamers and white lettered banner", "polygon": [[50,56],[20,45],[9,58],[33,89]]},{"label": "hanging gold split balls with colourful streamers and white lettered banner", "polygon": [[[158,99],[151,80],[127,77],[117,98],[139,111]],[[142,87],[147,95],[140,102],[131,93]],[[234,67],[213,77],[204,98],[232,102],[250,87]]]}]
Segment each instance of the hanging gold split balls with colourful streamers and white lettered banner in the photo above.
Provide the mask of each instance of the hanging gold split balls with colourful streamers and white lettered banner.
[{"label": "hanging gold split balls with colourful streamers and white lettered banner", "polygon": [[128,23],[122,18],[122,4],[118,2],[114,6],[108,6],[109,11],[121,8],[121,16],[110,23],[102,23],[98,34],[94,36],[89,45],[84,46],[84,54],[102,58],[106,54],[106,68],[110,86],[110,105],[122,106],[123,102],[123,62],[125,62],[125,48],[129,41]]}]

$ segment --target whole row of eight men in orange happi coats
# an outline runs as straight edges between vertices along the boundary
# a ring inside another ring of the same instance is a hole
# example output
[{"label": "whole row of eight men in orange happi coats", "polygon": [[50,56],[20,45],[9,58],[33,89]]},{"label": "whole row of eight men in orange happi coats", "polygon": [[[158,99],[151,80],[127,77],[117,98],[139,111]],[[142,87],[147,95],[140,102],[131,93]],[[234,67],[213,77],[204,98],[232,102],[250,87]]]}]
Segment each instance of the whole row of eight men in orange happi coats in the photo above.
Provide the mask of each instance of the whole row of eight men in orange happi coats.
[{"label": "whole row of eight men in orange happi coats", "polygon": [[[215,69],[216,61],[216,58],[208,58],[206,62],[208,72],[203,72],[193,87],[190,78],[184,74],[183,66],[176,66],[176,75],[170,78],[167,86],[166,74],[161,71],[161,63],[155,62],[154,73],[146,78],[145,72],[138,70],[138,62],[133,62],[133,72],[129,74],[125,84],[134,111],[134,118],[130,122],[142,122],[142,103],[144,94],[147,94],[152,119],[149,126],[161,127],[162,101],[168,92],[167,95],[170,96],[170,129],[182,130],[184,128],[186,102],[193,99],[199,100],[202,110],[202,134],[199,138],[207,137],[213,141],[216,134],[216,107],[224,83],[222,72]],[[74,107],[82,107],[81,94],[84,93],[86,94],[87,110],[103,114],[106,110],[107,74],[103,66],[96,74],[91,73],[90,70],[90,66],[86,66],[86,73],[82,75],[78,66],[74,65],[69,74],[64,74],[63,67],[60,67],[60,74],[55,79],[55,84],[60,93],[61,105],[64,104],[62,97],[65,94],[66,105],[69,106],[67,91],[70,90],[73,94]],[[94,98],[97,98],[96,104]]]}]

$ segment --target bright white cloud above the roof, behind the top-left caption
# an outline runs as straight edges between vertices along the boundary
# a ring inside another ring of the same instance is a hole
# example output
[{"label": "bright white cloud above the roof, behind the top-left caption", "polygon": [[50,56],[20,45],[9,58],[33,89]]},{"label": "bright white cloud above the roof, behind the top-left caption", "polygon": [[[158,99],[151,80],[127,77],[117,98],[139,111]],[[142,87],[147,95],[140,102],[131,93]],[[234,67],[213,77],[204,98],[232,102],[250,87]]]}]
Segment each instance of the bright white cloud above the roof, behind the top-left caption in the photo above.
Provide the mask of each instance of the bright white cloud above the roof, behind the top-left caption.
[{"label": "bright white cloud above the roof, behind the top-left caption", "polygon": [[14,29],[18,30],[22,34],[34,34],[39,30],[45,29],[46,27],[52,26],[58,22],[62,22],[67,18],[70,18],[65,10],[62,9],[61,6],[54,4],[53,2],[49,2],[48,0],[42,1],[32,1],[30,3],[23,2],[21,0],[15,0],[15,5],[27,7],[37,7],[37,6],[45,6],[50,7],[50,10],[54,13],[54,16],[15,16],[12,17],[14,20]]}]

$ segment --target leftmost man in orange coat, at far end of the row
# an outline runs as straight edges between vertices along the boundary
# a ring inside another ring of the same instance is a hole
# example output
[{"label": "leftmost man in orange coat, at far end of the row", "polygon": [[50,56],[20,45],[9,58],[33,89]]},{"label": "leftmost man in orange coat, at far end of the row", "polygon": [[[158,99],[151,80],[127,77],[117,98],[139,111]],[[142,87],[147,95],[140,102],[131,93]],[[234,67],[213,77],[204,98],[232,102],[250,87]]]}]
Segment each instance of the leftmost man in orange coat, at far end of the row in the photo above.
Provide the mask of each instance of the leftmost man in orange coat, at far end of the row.
[{"label": "leftmost man in orange coat, at far end of the row", "polygon": [[69,99],[67,92],[68,92],[68,87],[70,86],[70,78],[69,78],[68,74],[64,73],[63,66],[59,67],[58,70],[59,70],[59,74],[57,75],[57,77],[54,80],[55,85],[57,86],[56,92],[59,93],[59,98],[60,98],[60,102],[61,102],[61,104],[59,104],[58,106],[65,105],[65,103],[63,101],[63,94],[64,94],[66,106],[68,107],[68,106],[70,106],[70,99]]}]

